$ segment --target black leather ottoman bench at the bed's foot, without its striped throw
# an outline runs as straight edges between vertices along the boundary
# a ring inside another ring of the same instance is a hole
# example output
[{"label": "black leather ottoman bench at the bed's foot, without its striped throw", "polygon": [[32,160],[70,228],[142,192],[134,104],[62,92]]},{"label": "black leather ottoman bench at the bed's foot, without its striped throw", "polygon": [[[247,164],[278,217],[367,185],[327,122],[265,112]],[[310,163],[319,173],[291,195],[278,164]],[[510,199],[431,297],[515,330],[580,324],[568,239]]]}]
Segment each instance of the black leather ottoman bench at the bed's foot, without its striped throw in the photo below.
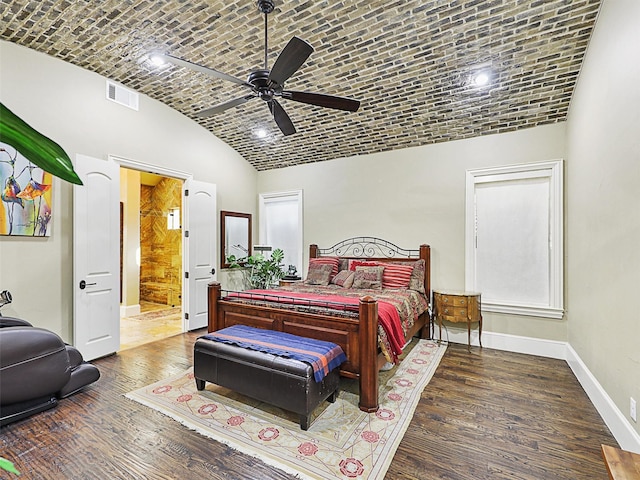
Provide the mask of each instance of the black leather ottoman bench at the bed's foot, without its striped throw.
[{"label": "black leather ottoman bench at the bed's foot, without its striped throw", "polygon": [[316,382],[308,363],[206,338],[197,339],[193,351],[198,390],[211,382],[297,413],[302,430],[309,428],[309,417],[320,403],[336,400],[338,371],[334,368]]}]

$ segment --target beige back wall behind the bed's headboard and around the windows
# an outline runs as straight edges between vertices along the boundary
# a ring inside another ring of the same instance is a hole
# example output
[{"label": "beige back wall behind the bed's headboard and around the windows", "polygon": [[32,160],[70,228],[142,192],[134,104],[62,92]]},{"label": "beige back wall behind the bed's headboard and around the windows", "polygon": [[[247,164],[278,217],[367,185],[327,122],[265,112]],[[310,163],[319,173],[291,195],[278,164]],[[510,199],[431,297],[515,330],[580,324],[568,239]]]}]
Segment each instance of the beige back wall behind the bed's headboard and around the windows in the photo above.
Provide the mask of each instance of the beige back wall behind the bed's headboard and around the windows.
[{"label": "beige back wall behind the bed's headboard and around the windows", "polygon": [[[433,288],[464,290],[467,169],[563,158],[565,124],[260,172],[260,193],[304,191],[304,248],[352,236],[432,247]],[[565,320],[484,315],[485,329],[567,340]]]}]

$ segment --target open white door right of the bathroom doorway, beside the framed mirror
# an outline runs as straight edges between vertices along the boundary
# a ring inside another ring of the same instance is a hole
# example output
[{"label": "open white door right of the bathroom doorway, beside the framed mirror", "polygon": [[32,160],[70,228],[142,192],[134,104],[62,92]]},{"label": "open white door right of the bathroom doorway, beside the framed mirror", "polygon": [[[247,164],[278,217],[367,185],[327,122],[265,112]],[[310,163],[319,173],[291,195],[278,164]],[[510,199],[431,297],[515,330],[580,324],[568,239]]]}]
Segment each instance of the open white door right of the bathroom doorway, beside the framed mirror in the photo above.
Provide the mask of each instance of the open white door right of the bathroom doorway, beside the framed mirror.
[{"label": "open white door right of the bathroom doorway, beside the framed mirror", "polygon": [[[217,210],[216,186],[189,179],[185,182],[185,248],[188,270],[185,279],[187,330],[207,326],[207,285],[216,279]],[[188,232],[188,234],[187,234]]]}]

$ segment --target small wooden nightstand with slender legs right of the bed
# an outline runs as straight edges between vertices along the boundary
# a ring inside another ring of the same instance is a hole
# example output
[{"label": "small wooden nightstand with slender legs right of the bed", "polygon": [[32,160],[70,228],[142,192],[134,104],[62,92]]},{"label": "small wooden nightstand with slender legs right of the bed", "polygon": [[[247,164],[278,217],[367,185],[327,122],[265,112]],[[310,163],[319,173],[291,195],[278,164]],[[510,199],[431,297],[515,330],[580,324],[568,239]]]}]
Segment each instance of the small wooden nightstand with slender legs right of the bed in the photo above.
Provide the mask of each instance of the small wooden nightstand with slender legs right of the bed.
[{"label": "small wooden nightstand with slender legs right of the bed", "polygon": [[471,324],[478,322],[478,341],[482,347],[482,311],[477,292],[433,292],[434,318],[438,321],[442,341],[442,321],[467,324],[467,348],[471,350]]}]

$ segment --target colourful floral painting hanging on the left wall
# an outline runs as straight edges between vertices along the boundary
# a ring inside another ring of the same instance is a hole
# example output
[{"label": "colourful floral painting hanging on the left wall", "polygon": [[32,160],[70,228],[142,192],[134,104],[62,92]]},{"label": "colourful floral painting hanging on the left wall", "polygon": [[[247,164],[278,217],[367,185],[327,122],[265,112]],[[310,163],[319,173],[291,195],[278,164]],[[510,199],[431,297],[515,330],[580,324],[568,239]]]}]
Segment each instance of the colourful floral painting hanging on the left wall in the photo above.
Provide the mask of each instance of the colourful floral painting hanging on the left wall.
[{"label": "colourful floral painting hanging on the left wall", "polygon": [[51,235],[53,177],[0,142],[0,235]]}]

